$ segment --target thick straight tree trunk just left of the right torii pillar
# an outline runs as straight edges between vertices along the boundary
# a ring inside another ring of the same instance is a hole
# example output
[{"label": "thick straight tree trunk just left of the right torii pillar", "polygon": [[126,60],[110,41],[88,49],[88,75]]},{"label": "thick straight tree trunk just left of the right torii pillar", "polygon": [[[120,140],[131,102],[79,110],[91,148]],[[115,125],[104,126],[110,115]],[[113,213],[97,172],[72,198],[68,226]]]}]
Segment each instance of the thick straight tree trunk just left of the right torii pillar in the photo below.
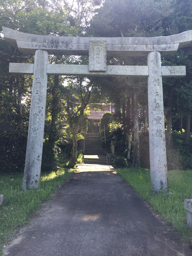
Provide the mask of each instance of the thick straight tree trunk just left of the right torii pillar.
[{"label": "thick straight tree trunk just left of the right torii pillar", "polygon": [[139,161],[139,125],[138,125],[138,102],[136,88],[132,88],[132,110],[133,110],[133,167],[140,164]]}]

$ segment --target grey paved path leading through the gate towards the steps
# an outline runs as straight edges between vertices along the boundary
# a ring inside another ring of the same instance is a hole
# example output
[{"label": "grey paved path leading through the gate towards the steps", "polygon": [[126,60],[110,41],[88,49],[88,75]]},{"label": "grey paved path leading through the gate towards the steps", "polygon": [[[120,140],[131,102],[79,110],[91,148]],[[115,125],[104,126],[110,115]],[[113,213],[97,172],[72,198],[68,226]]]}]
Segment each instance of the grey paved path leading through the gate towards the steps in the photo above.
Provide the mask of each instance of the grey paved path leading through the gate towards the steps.
[{"label": "grey paved path leading through the gate towards the steps", "polygon": [[9,256],[191,256],[111,166],[79,166],[4,248]]}]

